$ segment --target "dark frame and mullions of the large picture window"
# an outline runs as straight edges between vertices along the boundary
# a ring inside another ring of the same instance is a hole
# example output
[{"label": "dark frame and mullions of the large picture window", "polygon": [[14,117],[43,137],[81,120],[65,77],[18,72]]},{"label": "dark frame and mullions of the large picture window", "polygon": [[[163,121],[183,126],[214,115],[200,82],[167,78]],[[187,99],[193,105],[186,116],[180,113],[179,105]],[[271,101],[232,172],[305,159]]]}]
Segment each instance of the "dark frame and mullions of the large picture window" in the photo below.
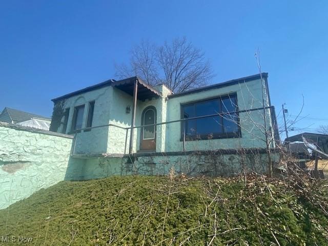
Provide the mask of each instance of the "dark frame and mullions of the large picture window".
[{"label": "dark frame and mullions of the large picture window", "polygon": [[[223,117],[222,116],[219,116],[220,117],[220,124],[221,124],[221,130],[222,130],[222,133],[213,133],[213,135],[210,135],[210,134],[203,134],[203,135],[197,135],[195,134],[194,136],[192,137],[188,137],[186,138],[183,137],[183,132],[184,132],[184,129],[185,129],[185,122],[186,120],[182,120],[181,121],[181,124],[180,124],[180,141],[194,141],[194,140],[210,140],[210,139],[220,139],[220,138],[241,138],[241,129],[240,129],[240,118],[239,118],[239,107],[238,107],[238,99],[237,99],[237,93],[234,92],[234,93],[229,93],[229,94],[224,94],[224,95],[220,95],[220,96],[212,96],[212,97],[207,97],[207,98],[202,98],[202,99],[199,99],[199,100],[193,100],[193,101],[188,101],[186,103],[180,103],[180,118],[181,119],[184,119],[183,117],[183,114],[184,114],[184,111],[183,111],[183,107],[187,106],[187,105],[194,105],[194,108],[196,110],[196,104],[197,103],[202,103],[202,102],[205,102],[205,101],[210,101],[210,100],[213,100],[213,99],[218,99],[220,101],[220,104],[219,104],[219,108],[220,108],[220,113],[222,113],[222,99],[226,99],[226,98],[230,98],[230,97],[234,97],[236,99],[236,115],[237,115],[237,127],[238,127],[238,131],[237,132],[228,132],[228,133],[225,133],[224,132],[224,126],[223,126]],[[196,115],[196,112],[195,112],[195,115]],[[195,116],[197,117],[197,116]],[[206,117],[204,117],[206,118]],[[197,133],[197,120],[195,120],[195,128],[196,128],[196,133]]]}]

